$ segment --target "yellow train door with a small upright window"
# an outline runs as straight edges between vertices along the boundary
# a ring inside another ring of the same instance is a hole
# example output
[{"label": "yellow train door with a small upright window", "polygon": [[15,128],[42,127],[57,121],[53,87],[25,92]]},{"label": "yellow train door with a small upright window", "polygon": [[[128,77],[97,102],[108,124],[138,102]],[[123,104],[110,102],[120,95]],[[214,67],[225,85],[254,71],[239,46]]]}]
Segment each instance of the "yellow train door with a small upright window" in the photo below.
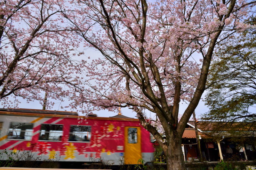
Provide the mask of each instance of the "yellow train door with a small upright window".
[{"label": "yellow train door with a small upright window", "polygon": [[126,126],[124,128],[124,164],[137,164],[141,159],[140,127]]}]

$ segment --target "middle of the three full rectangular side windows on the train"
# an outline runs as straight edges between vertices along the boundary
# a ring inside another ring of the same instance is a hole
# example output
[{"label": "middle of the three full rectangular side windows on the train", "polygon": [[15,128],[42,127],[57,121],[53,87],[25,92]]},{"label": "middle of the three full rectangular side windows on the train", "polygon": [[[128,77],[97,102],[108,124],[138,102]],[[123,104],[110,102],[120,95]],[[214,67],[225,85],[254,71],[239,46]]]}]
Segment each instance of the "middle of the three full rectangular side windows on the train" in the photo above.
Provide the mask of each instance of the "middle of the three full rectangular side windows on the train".
[{"label": "middle of the three full rectangular side windows on the train", "polygon": [[62,137],[62,124],[41,124],[39,140],[60,141]]}]

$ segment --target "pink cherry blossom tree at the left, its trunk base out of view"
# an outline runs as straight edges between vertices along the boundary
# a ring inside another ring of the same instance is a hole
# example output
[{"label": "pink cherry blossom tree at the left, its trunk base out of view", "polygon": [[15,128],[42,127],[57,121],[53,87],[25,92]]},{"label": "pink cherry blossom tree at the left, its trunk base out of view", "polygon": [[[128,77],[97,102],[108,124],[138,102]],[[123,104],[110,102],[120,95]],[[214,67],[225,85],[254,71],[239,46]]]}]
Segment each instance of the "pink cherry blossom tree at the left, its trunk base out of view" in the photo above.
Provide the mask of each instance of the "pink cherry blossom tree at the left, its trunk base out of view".
[{"label": "pink cherry blossom tree at the left, its trunk base out of view", "polygon": [[[72,98],[79,90],[84,62],[79,45],[65,27],[62,1],[0,2],[0,102],[13,106],[13,96],[40,100]],[[69,36],[69,37],[68,37]],[[43,93],[42,93],[43,92]],[[42,94],[42,95],[40,95]],[[49,105],[49,102],[48,102]]]}]

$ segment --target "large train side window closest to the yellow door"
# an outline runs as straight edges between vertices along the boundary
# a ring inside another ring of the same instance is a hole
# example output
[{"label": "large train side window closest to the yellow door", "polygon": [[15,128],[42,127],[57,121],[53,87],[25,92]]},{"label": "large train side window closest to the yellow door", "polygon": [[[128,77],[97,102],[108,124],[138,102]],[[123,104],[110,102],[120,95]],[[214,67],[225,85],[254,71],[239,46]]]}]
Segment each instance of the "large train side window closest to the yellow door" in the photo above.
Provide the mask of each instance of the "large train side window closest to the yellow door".
[{"label": "large train side window closest to the yellow door", "polygon": [[70,125],[68,141],[90,142],[91,126]]}]

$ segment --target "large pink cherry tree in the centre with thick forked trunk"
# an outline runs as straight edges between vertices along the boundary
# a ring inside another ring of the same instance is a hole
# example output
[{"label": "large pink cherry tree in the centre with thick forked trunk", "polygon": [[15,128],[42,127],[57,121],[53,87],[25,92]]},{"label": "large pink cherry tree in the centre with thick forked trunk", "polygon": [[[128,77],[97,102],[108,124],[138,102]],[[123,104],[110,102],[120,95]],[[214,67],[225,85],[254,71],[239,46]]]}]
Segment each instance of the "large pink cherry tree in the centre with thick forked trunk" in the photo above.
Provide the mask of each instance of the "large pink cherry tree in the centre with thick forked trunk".
[{"label": "large pink cherry tree in the centre with thick forked trunk", "polygon": [[[185,169],[181,138],[204,92],[214,48],[251,27],[245,21],[254,15],[255,1],[78,0],[73,5],[72,12],[63,12],[70,29],[102,54],[87,65],[87,89],[76,104],[83,103],[87,112],[129,107],[163,148],[168,169]],[[189,104],[178,121],[182,102]],[[166,140],[144,109],[156,113]]]}]

